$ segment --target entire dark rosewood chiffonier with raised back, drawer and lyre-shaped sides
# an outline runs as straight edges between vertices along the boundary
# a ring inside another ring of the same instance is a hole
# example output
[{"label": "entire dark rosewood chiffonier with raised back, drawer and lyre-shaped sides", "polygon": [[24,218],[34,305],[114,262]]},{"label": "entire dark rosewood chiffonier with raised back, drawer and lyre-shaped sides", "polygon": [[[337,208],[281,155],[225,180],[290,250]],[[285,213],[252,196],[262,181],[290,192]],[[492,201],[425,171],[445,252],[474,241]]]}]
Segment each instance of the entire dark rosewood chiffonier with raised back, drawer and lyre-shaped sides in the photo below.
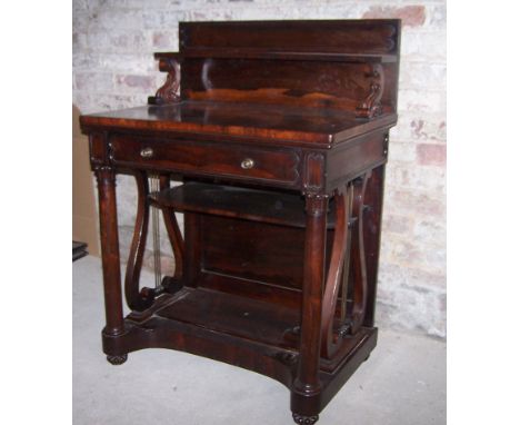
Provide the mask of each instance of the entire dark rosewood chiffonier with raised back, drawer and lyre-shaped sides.
[{"label": "entire dark rosewood chiffonier with raised back, drawer and lyre-shaped sides", "polygon": [[[254,370],[313,424],[376,347],[400,21],[181,22],[179,40],[156,53],[166,81],[146,106],[80,118],[98,179],[103,350],[114,365],[160,347]],[[138,190],[123,281],[118,174]],[[156,258],[154,287],[140,284],[150,216],[176,263],[157,275]]]}]

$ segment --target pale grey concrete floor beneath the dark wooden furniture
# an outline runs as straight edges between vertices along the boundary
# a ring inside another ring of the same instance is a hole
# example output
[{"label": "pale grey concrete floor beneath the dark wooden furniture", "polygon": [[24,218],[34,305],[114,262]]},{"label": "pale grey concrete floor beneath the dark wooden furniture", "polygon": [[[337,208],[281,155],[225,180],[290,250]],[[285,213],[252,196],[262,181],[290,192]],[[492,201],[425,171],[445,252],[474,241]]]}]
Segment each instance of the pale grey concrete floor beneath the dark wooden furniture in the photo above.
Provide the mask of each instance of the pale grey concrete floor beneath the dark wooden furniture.
[{"label": "pale grey concrete floor beneath the dark wooden furniture", "polygon": [[[143,271],[152,284],[152,276]],[[289,392],[252,372],[186,353],[148,349],[111,366],[101,350],[101,265],[73,263],[76,425],[292,424]],[[380,328],[370,359],[318,424],[446,424],[446,343]]]}]

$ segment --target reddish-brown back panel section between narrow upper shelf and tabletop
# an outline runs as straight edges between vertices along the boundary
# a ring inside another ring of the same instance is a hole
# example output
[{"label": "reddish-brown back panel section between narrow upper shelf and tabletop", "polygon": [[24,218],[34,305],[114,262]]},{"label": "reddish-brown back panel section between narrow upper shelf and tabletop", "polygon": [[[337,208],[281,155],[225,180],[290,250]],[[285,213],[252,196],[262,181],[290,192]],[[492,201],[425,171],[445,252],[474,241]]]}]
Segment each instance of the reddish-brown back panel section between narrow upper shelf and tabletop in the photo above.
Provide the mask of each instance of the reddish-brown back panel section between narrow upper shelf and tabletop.
[{"label": "reddish-brown back panel section between narrow upper shelf and tabletop", "polygon": [[353,110],[370,90],[362,63],[193,59],[182,70],[182,95],[197,100]]}]

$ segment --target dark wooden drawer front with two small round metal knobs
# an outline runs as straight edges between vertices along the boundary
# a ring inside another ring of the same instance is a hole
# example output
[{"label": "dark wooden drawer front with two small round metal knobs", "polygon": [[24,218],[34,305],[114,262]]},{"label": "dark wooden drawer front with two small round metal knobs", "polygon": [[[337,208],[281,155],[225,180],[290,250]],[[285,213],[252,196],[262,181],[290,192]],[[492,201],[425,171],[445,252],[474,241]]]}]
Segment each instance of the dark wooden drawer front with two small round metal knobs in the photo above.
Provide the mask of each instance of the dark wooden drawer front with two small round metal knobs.
[{"label": "dark wooden drawer front with two small round metal knobs", "polygon": [[283,184],[296,184],[300,177],[298,152],[233,144],[113,136],[110,158],[119,166],[202,176]]}]

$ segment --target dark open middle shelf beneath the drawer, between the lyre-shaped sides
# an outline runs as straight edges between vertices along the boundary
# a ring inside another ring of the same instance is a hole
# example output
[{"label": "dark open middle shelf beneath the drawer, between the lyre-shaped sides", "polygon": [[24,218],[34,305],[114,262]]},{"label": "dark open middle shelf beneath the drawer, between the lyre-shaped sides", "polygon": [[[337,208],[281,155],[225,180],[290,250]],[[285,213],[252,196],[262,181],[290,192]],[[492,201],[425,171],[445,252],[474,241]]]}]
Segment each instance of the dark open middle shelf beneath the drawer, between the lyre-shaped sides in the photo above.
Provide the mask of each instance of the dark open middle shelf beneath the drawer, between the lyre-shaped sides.
[{"label": "dark open middle shelf beneath the drawer, between the lyre-shaped sides", "polygon": [[[187,182],[150,195],[153,205],[291,227],[306,227],[306,202],[298,194],[274,192],[237,186]],[[333,200],[331,200],[333,202]],[[328,227],[333,227],[329,208]]]}]

